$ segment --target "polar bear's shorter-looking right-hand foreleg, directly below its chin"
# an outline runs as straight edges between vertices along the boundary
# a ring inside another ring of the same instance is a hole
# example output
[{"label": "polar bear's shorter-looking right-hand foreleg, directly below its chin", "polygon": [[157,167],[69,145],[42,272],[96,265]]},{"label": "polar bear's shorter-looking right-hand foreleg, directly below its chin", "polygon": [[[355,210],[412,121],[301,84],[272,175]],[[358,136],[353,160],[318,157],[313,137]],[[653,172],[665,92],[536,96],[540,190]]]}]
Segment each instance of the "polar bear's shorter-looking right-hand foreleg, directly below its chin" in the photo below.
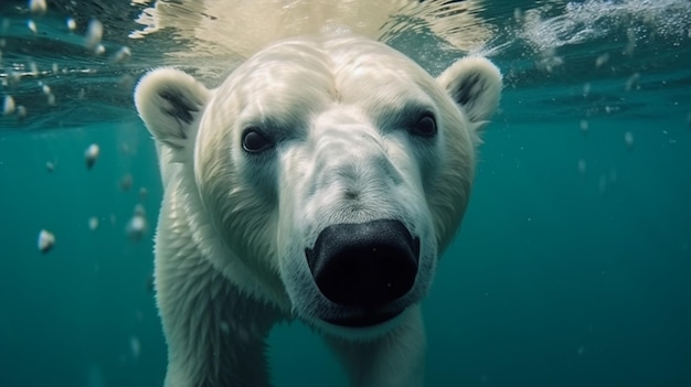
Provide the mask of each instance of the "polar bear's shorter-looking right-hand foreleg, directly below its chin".
[{"label": "polar bear's shorter-looking right-hand foreleg, directly below its chin", "polygon": [[374,341],[325,335],[353,387],[422,387],[427,341],[419,305],[411,307],[392,332]]}]

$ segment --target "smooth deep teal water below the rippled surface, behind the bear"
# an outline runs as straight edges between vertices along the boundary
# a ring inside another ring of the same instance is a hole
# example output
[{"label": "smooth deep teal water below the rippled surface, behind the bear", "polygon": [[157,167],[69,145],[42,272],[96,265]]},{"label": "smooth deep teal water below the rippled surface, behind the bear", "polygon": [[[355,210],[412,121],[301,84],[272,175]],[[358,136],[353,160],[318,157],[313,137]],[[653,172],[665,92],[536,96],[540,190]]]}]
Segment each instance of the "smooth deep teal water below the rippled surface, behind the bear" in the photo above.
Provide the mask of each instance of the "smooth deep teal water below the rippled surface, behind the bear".
[{"label": "smooth deep teal water below the rippled surface, behind the bear", "polygon": [[[691,131],[673,116],[597,119],[589,129],[514,125],[506,112],[487,129],[463,230],[424,304],[430,386],[691,381]],[[102,157],[89,171],[92,142]],[[148,190],[149,219],[161,195],[143,127],[131,117],[4,135],[0,154],[0,385],[162,385],[151,241],[124,230],[138,187]],[[616,184],[602,193],[599,176],[613,170]],[[127,192],[125,173],[135,182]],[[95,232],[91,216],[102,218]],[[35,246],[41,228],[57,238],[47,255]],[[277,386],[346,385],[306,327],[280,325],[270,345]]]}]

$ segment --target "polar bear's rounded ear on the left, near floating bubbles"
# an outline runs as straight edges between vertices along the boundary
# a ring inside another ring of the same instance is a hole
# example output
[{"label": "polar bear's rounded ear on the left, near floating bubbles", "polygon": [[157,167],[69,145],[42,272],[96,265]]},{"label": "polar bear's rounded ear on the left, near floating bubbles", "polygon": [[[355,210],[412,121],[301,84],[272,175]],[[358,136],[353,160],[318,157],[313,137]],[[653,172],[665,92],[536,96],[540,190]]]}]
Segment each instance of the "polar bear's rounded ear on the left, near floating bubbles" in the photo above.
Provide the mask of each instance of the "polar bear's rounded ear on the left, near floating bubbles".
[{"label": "polar bear's rounded ear on the left, near floating bubbles", "polygon": [[139,116],[157,141],[184,148],[211,92],[192,76],[174,68],[145,75],[135,89]]}]

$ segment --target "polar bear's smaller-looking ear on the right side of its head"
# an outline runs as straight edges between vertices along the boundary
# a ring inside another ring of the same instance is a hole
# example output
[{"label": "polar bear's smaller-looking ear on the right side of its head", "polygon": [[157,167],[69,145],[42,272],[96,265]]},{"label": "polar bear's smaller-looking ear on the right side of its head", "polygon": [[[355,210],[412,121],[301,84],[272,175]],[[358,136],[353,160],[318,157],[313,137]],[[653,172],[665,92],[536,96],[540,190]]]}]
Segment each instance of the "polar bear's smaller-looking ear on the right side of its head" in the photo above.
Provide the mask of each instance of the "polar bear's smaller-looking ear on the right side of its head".
[{"label": "polar bear's smaller-looking ear on the right side of its head", "polygon": [[501,73],[488,60],[468,56],[450,65],[437,82],[479,128],[495,112],[501,93]]}]

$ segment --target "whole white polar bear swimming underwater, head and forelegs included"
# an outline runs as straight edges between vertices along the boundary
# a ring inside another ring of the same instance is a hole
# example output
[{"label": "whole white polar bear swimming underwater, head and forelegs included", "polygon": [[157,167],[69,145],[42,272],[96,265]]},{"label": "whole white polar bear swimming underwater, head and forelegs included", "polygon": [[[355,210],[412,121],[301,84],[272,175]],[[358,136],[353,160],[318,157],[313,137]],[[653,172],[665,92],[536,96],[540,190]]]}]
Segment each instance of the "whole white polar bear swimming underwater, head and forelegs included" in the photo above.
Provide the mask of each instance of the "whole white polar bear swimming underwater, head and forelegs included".
[{"label": "whole white polar bear swimming underwater, head and forelegs included", "polygon": [[422,386],[419,303],[500,89],[486,58],[434,78],[348,32],[274,42],[213,89],[170,67],[145,75],[166,386],[268,386],[266,337],[291,320],[351,385]]}]

